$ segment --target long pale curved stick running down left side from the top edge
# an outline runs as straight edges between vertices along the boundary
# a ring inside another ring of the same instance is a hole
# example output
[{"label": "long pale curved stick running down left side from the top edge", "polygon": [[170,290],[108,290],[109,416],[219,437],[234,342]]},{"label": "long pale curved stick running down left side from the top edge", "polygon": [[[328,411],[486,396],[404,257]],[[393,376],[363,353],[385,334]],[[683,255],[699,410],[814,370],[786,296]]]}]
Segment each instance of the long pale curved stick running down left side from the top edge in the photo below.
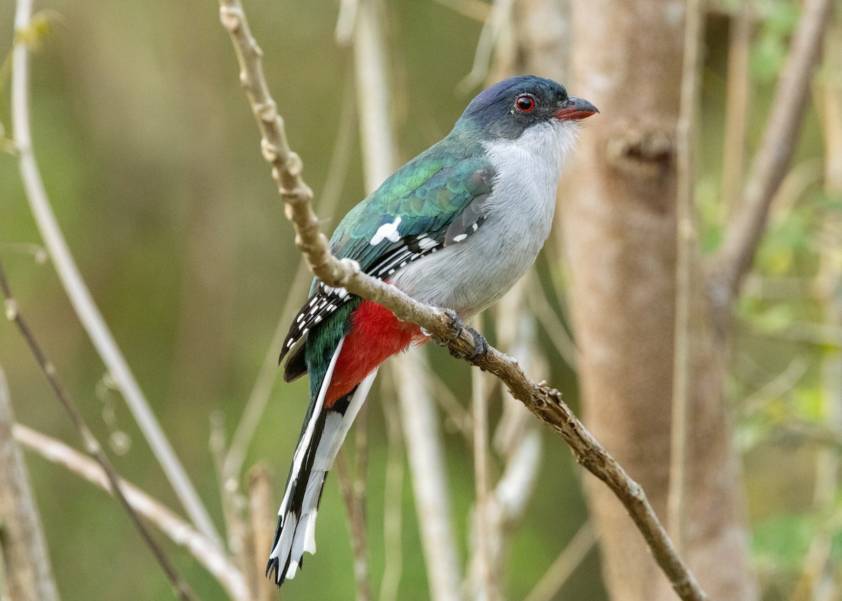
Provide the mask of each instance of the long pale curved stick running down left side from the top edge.
[{"label": "long pale curved stick running down left side from the top edge", "polygon": [[18,40],[13,50],[12,124],[14,141],[18,149],[20,176],[24,183],[26,198],[29,200],[35,222],[47,250],[50,252],[52,262],[56,266],[61,284],[67,291],[67,296],[70,298],[77,316],[79,316],[79,321],[82,322],[85,331],[88,332],[88,336],[108,368],[109,374],[119,386],[126,405],[128,405],[137,425],[149,442],[149,446],[161,464],[164,473],[173,486],[173,490],[178,495],[193,523],[212,544],[221,547],[219,533],[210,520],[207,509],[202,504],[199,495],[196,494],[193,484],[184,471],[179,458],[173,452],[173,447],[164,435],[161,425],[152,413],[146,397],[143,396],[143,392],[105,324],[102,314],[99,312],[96,303],[93,302],[88,286],[85,285],[82,275],[79,274],[76,262],[73,260],[64,235],[61,233],[56,215],[53,214],[50,199],[47,197],[44,183],[41,180],[38,163],[35,162],[29,127],[29,49],[24,41],[26,37],[24,31],[29,26],[31,13],[32,0],[18,0],[17,13],[14,19],[14,28]]}]

